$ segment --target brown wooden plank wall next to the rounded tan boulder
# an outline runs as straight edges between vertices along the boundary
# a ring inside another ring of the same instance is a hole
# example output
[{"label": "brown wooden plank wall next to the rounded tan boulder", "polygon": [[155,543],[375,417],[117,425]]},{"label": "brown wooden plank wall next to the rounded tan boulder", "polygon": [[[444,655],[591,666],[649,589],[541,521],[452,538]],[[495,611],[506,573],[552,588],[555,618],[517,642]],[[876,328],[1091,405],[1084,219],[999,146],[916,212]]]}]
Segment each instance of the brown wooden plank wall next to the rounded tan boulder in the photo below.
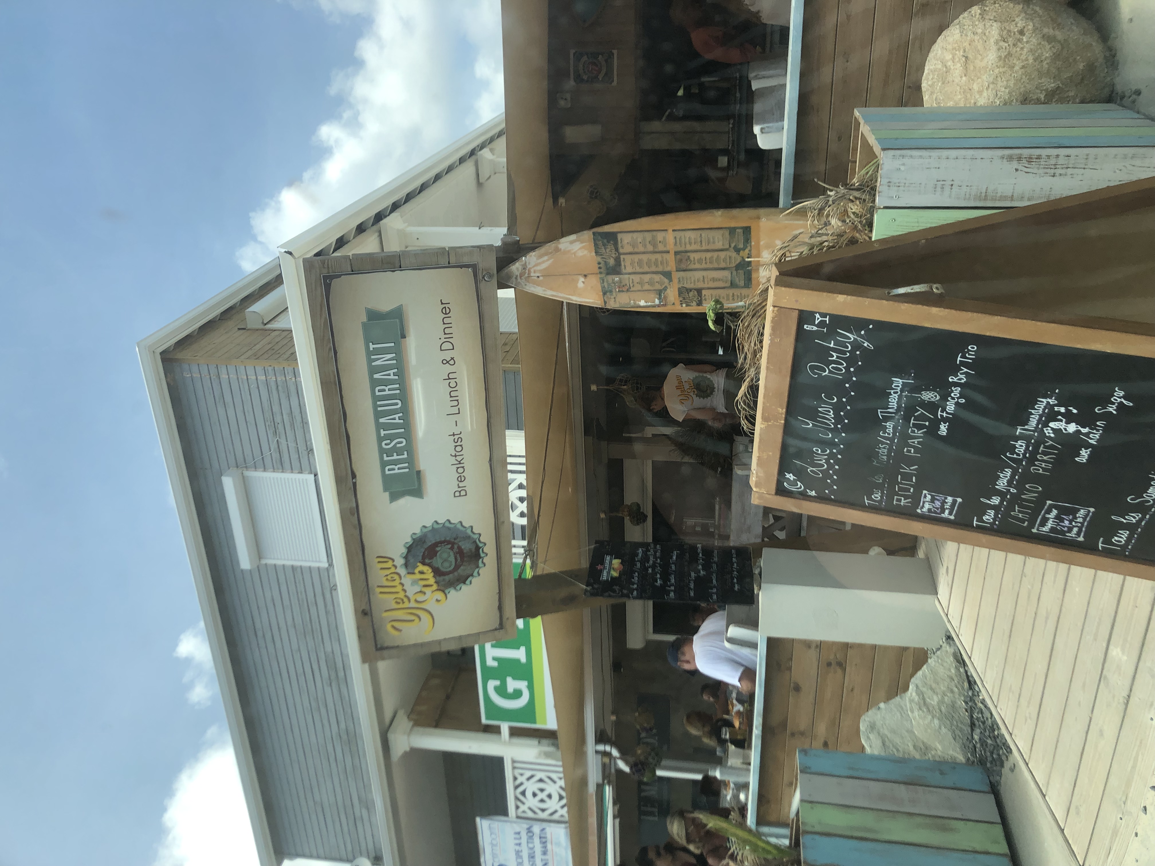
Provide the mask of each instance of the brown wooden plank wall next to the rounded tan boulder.
[{"label": "brown wooden plank wall next to the rounded tan boulder", "polygon": [[805,0],[793,200],[843,184],[855,109],[923,104],[938,37],[979,0]]}]

